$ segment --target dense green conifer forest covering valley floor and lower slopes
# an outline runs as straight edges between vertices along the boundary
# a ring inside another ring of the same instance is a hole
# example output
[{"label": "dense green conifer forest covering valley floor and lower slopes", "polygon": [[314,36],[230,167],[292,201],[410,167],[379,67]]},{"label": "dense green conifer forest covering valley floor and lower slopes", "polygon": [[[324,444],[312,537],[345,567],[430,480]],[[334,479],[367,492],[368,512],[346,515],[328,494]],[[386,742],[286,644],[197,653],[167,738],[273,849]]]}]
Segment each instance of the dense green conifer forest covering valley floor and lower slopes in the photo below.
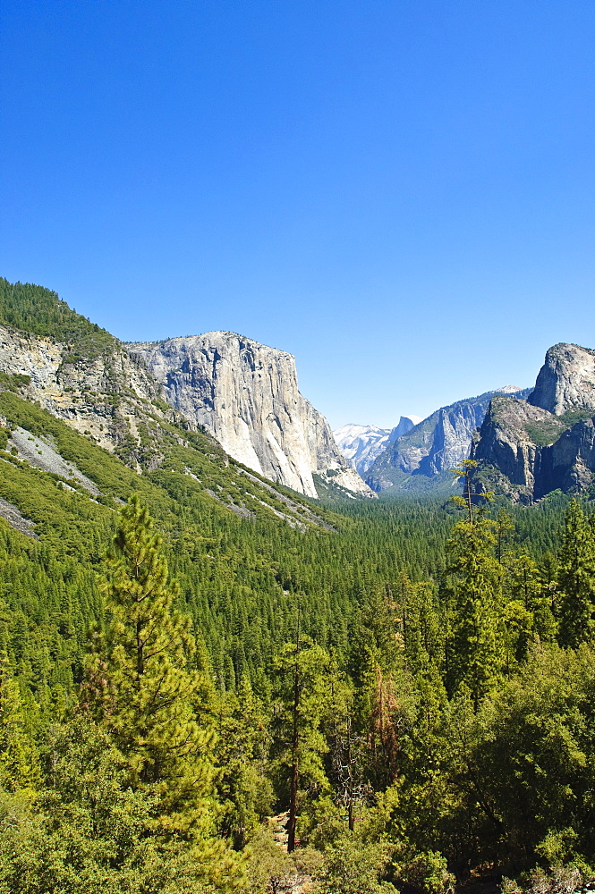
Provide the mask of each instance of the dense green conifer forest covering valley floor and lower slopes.
[{"label": "dense green conifer forest covering valley floor and lower slopes", "polygon": [[[110,350],[19,289],[0,324]],[[130,468],[26,376],[0,377],[0,414],[0,499],[24,519],[0,519],[0,892],[595,876],[588,494],[265,498],[200,433]],[[19,458],[16,430],[98,492]]]}]

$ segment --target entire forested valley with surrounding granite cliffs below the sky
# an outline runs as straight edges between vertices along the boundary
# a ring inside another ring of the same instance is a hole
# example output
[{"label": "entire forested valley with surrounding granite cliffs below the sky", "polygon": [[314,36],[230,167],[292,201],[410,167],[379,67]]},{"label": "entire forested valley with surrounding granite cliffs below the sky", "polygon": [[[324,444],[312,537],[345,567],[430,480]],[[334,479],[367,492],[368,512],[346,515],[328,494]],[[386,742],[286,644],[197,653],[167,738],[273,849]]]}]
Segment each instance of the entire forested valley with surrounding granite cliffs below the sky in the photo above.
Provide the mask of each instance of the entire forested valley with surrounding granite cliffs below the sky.
[{"label": "entire forested valley with surrounding granite cliffs below the sky", "polygon": [[284,351],[0,285],[3,890],[591,881],[595,352],[335,441]]}]

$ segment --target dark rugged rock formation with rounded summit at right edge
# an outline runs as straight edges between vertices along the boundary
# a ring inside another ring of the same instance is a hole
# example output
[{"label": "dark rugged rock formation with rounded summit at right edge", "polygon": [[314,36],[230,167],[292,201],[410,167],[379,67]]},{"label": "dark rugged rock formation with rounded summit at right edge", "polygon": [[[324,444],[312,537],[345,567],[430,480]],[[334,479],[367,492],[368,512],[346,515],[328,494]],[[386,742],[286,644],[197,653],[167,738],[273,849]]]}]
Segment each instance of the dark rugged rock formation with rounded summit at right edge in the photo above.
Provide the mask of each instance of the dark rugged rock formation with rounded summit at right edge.
[{"label": "dark rugged rock formation with rounded summit at right edge", "polygon": [[527,402],[497,397],[475,434],[477,492],[531,503],[553,490],[595,482],[595,351],[557,344],[546,354]]}]

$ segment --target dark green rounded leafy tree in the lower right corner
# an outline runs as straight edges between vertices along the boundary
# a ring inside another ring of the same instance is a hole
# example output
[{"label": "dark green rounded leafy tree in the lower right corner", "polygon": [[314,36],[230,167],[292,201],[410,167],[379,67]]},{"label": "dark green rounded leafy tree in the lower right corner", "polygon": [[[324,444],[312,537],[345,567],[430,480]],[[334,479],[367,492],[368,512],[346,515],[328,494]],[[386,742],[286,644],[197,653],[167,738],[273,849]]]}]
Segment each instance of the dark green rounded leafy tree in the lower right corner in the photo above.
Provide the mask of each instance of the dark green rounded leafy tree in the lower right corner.
[{"label": "dark green rounded leafy tree in the lower right corner", "polygon": [[591,650],[533,647],[522,670],[483,709],[471,762],[517,869],[592,862],[595,767]]}]

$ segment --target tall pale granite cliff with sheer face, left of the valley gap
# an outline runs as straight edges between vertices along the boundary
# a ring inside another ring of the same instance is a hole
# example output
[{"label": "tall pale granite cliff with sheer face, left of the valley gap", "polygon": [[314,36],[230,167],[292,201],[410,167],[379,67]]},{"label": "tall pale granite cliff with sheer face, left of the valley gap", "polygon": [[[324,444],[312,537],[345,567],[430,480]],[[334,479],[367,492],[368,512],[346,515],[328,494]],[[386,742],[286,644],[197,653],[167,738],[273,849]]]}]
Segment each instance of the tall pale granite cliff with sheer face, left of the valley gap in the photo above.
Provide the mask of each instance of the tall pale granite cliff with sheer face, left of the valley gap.
[{"label": "tall pale granite cliff with sheer face, left of the valley gap", "polygon": [[163,385],[166,400],[244,466],[312,497],[313,473],[372,495],[325,417],[299,392],[291,354],[223,332],[127,348]]}]

